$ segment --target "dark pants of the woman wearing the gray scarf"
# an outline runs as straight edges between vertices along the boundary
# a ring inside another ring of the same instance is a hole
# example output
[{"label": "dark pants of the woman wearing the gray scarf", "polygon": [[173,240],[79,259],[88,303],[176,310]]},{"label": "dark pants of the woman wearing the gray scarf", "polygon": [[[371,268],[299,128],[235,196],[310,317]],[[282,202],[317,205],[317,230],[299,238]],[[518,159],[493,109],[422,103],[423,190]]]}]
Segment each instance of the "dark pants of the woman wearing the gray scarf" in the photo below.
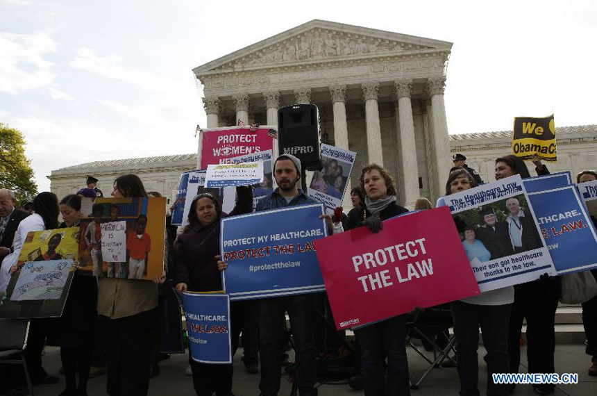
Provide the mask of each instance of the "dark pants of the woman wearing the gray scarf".
[{"label": "dark pants of the woman wearing the gray scarf", "polygon": [[[407,315],[399,315],[356,331],[362,349],[366,396],[410,395],[405,347],[406,322]],[[387,356],[385,374],[382,348]]]}]

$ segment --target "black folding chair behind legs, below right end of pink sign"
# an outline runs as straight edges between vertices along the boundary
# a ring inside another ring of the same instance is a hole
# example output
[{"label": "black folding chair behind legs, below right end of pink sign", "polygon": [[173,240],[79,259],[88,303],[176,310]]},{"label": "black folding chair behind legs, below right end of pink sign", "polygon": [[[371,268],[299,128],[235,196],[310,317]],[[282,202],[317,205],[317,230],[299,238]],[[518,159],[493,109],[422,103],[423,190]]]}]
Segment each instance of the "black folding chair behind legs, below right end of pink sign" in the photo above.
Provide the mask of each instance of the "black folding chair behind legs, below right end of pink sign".
[{"label": "black folding chair behind legs, below right end of pink sign", "polygon": [[[448,306],[442,305],[434,308],[427,308],[423,313],[417,313],[414,315],[412,320],[407,323],[406,329],[406,342],[414,352],[417,352],[427,363],[429,363],[429,367],[423,373],[421,378],[415,383],[411,383],[410,388],[413,390],[418,390],[421,387],[421,383],[425,381],[428,374],[433,370],[433,368],[439,367],[439,365],[444,362],[444,360],[448,359],[451,361],[453,365],[456,365],[456,361],[448,356],[450,351],[456,353],[454,348],[455,338],[454,336],[446,336],[444,333],[445,329],[448,327],[452,327],[452,313]],[[437,343],[435,343],[432,338],[435,336],[439,336],[444,338],[446,341],[445,347],[439,347]],[[423,342],[428,343],[433,348],[433,358],[429,358],[417,345],[413,343],[413,338],[419,338]]]}]

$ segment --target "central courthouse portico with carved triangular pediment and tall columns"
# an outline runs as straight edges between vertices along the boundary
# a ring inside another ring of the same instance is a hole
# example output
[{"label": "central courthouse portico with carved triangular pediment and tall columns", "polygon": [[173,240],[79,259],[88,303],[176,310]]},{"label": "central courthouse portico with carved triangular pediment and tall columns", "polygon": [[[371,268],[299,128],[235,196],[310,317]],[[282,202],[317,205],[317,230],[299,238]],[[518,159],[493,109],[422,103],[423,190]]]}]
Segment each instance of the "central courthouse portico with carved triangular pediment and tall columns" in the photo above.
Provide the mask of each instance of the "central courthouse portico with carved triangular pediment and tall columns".
[{"label": "central courthouse portico with carved triangular pediment and tall columns", "polygon": [[315,104],[328,143],[356,151],[355,170],[386,167],[399,200],[412,206],[442,195],[451,167],[444,107],[451,47],[313,20],[193,72],[204,86],[208,128],[277,125],[279,107]]}]

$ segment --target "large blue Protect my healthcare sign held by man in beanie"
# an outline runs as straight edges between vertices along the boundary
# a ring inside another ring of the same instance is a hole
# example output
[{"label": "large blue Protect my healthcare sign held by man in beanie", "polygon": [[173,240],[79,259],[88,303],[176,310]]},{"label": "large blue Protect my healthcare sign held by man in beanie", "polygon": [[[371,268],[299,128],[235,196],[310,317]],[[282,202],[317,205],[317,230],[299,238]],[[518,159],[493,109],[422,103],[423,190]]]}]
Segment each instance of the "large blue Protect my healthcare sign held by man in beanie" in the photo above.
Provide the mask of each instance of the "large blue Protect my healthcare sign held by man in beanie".
[{"label": "large blue Protect my healthcare sign held by man in beanie", "polygon": [[289,206],[221,220],[222,272],[230,299],[325,290],[314,240],[328,235],[322,204]]}]

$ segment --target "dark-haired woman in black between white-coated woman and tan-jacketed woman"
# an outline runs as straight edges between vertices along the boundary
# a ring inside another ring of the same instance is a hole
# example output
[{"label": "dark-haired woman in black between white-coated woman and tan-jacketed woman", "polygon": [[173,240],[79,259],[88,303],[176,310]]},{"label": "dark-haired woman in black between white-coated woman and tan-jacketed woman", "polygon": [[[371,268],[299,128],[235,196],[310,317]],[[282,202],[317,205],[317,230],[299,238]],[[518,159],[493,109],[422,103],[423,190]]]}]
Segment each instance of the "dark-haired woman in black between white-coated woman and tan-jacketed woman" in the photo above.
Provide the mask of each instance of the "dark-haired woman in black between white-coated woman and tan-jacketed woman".
[{"label": "dark-haired woman in black between white-coated woman and tan-jacketed woman", "polygon": [[[60,200],[60,228],[76,227],[81,221],[81,197],[67,195]],[[85,242],[80,238],[81,242]],[[92,344],[97,317],[97,281],[75,272],[62,316],[55,322],[53,340],[60,345],[60,360],[66,389],[60,396],[86,396],[91,368]],[[78,384],[76,381],[78,372]]]}]

